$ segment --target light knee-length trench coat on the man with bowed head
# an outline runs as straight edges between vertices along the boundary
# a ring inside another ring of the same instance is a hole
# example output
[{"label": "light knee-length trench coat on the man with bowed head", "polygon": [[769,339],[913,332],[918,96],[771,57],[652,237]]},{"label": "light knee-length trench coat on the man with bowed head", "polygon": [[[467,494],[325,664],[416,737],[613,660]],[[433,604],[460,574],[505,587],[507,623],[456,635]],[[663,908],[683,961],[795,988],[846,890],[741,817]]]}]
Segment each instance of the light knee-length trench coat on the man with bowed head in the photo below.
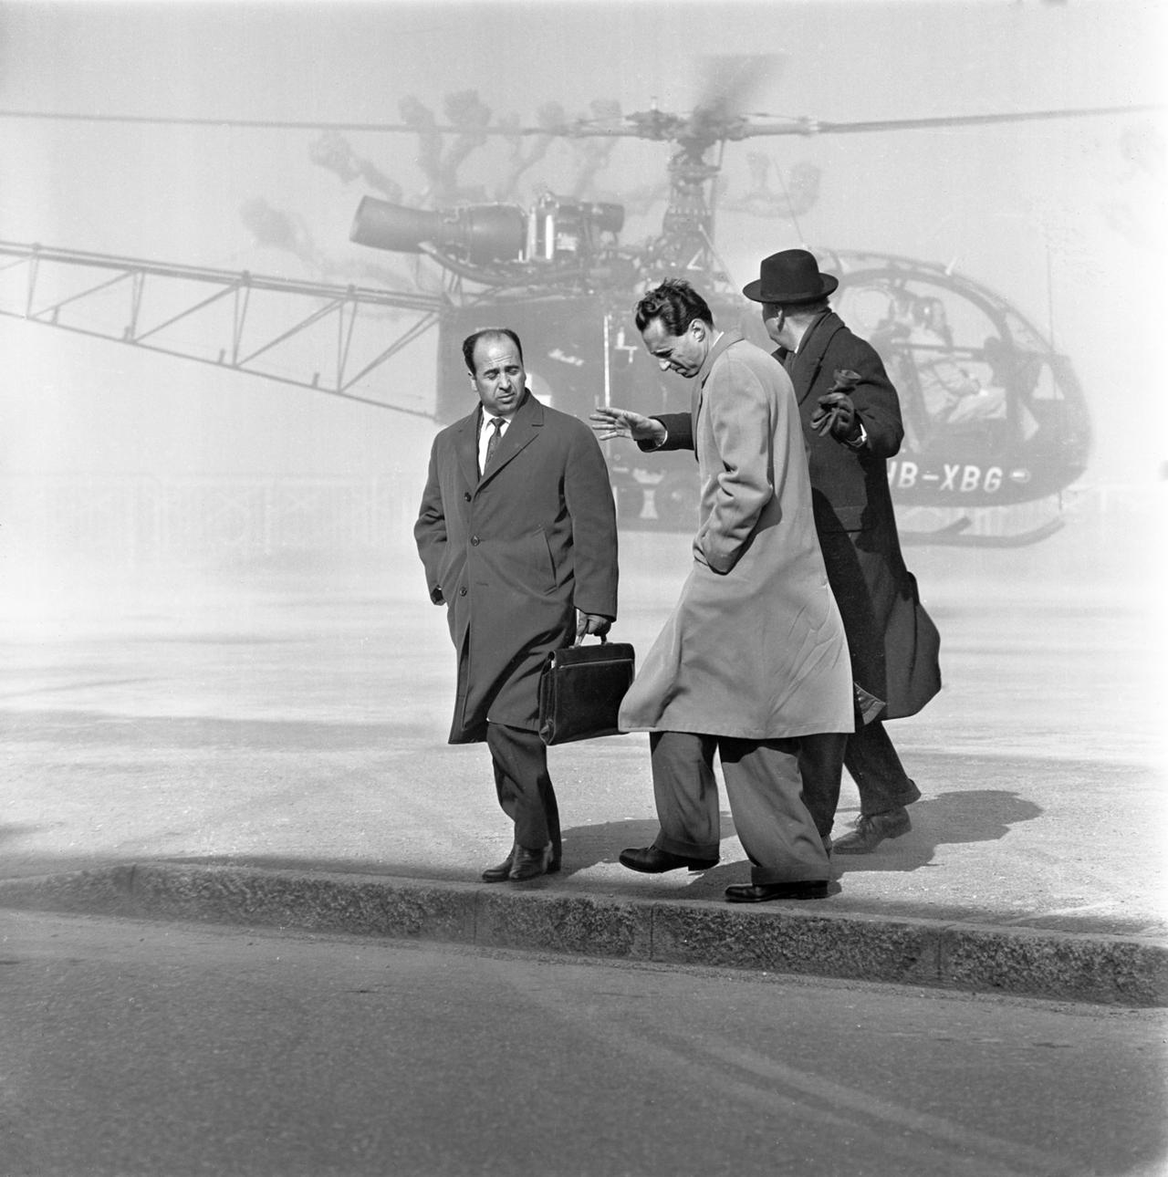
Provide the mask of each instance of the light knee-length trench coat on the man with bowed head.
[{"label": "light knee-length trench coat on the man with bowed head", "polygon": [[850,732],[851,667],[811,513],[791,381],[724,333],[694,381],[694,567],[620,707],[625,731]]}]

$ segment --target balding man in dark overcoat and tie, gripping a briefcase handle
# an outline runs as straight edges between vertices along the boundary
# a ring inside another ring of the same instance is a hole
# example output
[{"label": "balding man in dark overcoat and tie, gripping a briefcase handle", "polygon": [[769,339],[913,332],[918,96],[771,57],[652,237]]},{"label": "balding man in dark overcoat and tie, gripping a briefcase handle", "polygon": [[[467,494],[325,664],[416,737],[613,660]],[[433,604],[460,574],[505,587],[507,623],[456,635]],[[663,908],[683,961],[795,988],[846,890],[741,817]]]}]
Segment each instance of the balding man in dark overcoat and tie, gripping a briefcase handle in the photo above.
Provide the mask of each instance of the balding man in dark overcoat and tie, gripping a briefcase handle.
[{"label": "balding man in dark overcoat and tie, gripping a briefcase handle", "polygon": [[463,355],[480,404],[434,438],[413,533],[458,654],[450,743],[486,742],[515,823],[511,852],[483,872],[496,883],[559,870],[539,670],[616,619],[617,524],[596,438],[531,395],[515,332],[476,332]]}]

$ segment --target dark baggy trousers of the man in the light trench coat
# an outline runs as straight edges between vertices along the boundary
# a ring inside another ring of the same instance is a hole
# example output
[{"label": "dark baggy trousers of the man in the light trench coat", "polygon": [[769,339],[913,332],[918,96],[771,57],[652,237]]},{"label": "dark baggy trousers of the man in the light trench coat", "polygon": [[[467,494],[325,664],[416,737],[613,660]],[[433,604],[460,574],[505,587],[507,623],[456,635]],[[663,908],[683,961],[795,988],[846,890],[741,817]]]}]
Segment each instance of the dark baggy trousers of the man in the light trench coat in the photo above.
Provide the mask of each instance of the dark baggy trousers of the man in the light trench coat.
[{"label": "dark baggy trousers of the man in the light trench coat", "polygon": [[751,882],[817,882],[830,876],[827,851],[803,803],[797,740],[651,732],[649,750],[661,822],[653,845],[659,850],[718,858],[717,752]]}]

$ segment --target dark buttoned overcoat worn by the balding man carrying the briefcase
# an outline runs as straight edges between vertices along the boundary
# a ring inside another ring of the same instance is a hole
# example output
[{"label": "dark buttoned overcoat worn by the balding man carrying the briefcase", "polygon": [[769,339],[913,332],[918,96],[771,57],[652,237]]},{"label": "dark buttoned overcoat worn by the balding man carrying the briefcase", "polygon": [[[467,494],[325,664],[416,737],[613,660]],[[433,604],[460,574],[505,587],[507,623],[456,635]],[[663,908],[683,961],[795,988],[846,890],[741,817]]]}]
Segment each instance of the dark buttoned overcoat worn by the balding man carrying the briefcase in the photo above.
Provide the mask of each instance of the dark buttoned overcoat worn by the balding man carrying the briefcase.
[{"label": "dark buttoned overcoat worn by the balding man carrying the briefcase", "polygon": [[443,430],[414,525],[430,598],[458,652],[451,744],[487,719],[536,731],[539,669],[576,610],[617,616],[617,524],[592,431],[531,393],[478,476],[480,410]]}]

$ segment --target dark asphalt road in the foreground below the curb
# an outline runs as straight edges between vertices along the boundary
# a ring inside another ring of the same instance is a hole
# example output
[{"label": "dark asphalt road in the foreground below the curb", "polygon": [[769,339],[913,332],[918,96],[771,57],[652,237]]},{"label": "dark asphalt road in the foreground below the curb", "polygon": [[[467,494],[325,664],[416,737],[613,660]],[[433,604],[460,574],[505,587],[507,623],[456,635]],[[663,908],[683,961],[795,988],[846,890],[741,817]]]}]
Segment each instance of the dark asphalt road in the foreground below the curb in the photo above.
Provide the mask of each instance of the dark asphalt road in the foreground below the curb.
[{"label": "dark asphalt road in the foreground below the curb", "polygon": [[0,1172],[1150,1177],[1166,1025],[2,912]]}]

